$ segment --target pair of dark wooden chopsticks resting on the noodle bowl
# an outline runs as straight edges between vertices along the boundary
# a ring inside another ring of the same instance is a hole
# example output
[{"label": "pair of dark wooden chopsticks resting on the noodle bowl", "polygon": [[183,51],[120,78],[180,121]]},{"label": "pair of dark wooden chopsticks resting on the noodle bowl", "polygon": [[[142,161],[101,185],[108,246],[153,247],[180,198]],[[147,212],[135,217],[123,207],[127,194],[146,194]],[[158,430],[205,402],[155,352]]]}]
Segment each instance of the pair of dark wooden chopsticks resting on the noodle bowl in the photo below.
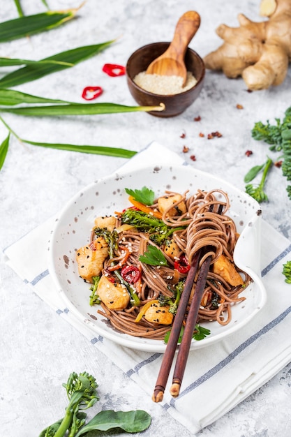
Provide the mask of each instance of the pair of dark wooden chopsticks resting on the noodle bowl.
[{"label": "pair of dark wooden chopsticks resting on the noodle bowl", "polygon": [[[172,361],[174,359],[177,343],[179,341],[179,336],[181,333],[181,327],[186,313],[188,300],[191,295],[191,290],[193,288],[195,275],[197,273],[197,269],[199,266],[200,253],[201,251],[198,251],[195,254],[190,270],[187,275],[184,291],[181,295],[179,307],[176,316],[174,318],[174,323],[172,325],[170,338],[169,341],[167,342],[167,347],[165,349],[165,354],[163,356],[161,369],[158,373],[158,378],[156,380],[156,386],[154,388],[154,394],[152,396],[152,400],[154,402],[161,402],[163,400],[165,386],[167,385],[167,378],[169,376],[170,369],[172,367]],[[184,328],[181,344],[179,346],[176,365],[174,367],[172,386],[170,387],[170,394],[172,395],[172,397],[177,397],[180,392],[180,387],[183,380],[184,371],[186,369],[186,362],[189,355],[193,331],[195,328],[200,302],[202,299],[202,295],[207,280],[207,274],[209,271],[210,262],[211,262],[211,255],[209,255],[204,260],[200,268],[200,272],[197,276],[195,292],[193,295],[193,299],[191,301],[190,309],[188,311],[186,325]]]}]

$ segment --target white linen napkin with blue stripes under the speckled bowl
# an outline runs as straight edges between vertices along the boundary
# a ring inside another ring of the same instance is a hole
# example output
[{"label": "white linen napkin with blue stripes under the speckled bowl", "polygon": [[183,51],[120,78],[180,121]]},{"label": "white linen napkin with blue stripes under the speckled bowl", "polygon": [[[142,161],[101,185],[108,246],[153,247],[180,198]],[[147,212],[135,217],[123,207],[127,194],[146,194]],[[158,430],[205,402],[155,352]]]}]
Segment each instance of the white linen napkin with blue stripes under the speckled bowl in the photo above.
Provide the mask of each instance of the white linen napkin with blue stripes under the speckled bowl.
[{"label": "white linen napkin with blue stripes under the speckled bowl", "polygon": [[[146,165],[153,159],[165,164],[183,161],[153,142],[127,161],[123,169]],[[47,269],[47,242],[55,219],[50,218],[8,247],[4,251],[7,264],[151,397],[163,355],[130,350],[96,336],[66,309],[54,290]],[[290,241],[262,221],[262,281],[267,289],[267,304],[241,332],[209,348],[191,351],[178,398],[172,399],[165,391],[160,405],[192,433],[230,411],[290,362],[291,338],[286,333],[291,332],[291,286],[285,283],[282,274],[283,264],[291,258],[290,252]]]}]

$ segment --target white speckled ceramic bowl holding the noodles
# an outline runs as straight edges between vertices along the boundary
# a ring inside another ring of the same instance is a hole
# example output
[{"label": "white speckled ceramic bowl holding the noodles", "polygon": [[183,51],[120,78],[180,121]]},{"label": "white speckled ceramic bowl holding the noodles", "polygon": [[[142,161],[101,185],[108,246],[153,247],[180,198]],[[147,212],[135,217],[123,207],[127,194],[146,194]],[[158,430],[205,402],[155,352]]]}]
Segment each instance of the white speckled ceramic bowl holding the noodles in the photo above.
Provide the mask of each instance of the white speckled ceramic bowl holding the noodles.
[{"label": "white speckled ceramic bowl holding the noodles", "polygon": [[193,170],[191,166],[153,165],[130,173],[117,173],[99,179],[84,188],[68,202],[61,212],[50,240],[50,274],[68,309],[100,336],[107,337],[122,346],[163,352],[163,341],[140,339],[119,333],[108,326],[97,313],[97,306],[89,305],[89,284],[80,279],[75,262],[75,251],[89,241],[96,216],[114,214],[129,205],[124,188],[148,186],[156,195],[166,189],[183,193],[198,188],[221,188],[228,193],[232,216],[241,234],[234,253],[237,265],[253,278],[244,295],[246,300],[232,307],[232,320],[226,325],[217,322],[203,323],[211,334],[202,341],[193,341],[191,349],[210,346],[241,329],[260,311],[266,301],[266,292],[260,280],[260,205],[250,196],[231,184],[207,173]]}]

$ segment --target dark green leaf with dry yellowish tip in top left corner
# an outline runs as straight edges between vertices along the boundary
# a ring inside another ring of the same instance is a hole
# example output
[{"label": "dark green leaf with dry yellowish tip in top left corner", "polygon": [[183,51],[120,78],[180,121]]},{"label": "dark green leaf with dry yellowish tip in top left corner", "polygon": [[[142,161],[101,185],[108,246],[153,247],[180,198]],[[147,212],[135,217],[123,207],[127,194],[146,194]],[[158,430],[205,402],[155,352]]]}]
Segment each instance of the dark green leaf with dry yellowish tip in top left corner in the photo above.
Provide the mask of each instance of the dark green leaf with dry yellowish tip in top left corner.
[{"label": "dark green leaf with dry yellowish tip in top left corner", "polygon": [[27,15],[0,23],[0,43],[23,38],[42,31],[53,29],[72,20],[80,8],[64,11],[50,10],[45,13]]}]

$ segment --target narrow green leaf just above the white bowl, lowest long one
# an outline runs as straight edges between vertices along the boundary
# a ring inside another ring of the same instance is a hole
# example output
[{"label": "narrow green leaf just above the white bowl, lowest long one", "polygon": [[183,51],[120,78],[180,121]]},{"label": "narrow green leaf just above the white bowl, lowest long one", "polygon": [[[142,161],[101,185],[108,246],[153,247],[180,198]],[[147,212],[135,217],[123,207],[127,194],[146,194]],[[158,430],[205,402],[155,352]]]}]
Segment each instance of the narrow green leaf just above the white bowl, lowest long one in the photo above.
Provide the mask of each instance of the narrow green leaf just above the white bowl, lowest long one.
[{"label": "narrow green leaf just above the white bowl, lowest long one", "polygon": [[70,145],[70,144],[52,144],[48,142],[35,142],[21,140],[33,146],[47,147],[50,149],[60,149],[68,151],[78,151],[84,154],[117,156],[119,158],[132,158],[137,152],[128,149],[119,149],[117,147],[89,146],[89,145]]}]

